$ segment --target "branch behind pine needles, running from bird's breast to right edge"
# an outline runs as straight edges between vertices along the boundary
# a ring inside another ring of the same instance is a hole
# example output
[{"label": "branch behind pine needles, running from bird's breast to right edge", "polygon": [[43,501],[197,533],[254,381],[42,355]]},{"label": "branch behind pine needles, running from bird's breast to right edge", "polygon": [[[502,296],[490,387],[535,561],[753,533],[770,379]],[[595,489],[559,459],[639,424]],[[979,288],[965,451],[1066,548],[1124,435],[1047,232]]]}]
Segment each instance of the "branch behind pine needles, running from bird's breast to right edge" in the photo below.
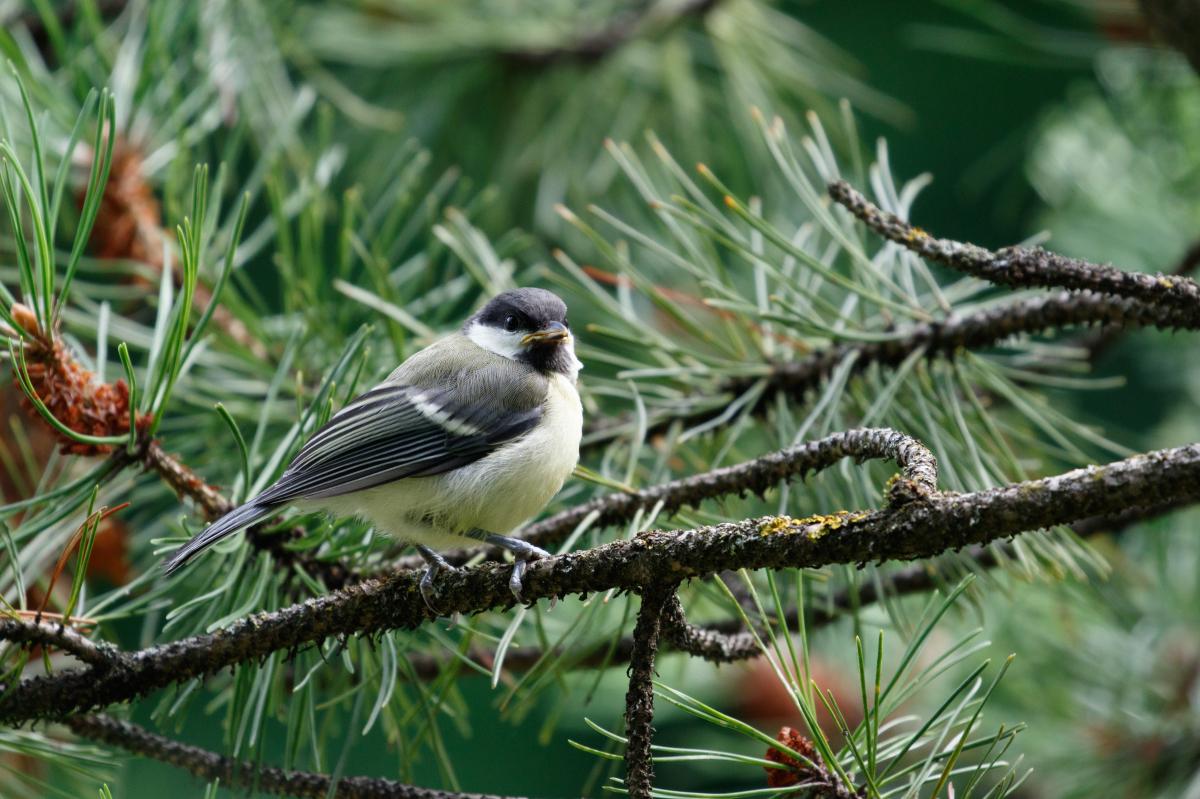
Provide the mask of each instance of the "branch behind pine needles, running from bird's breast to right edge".
[{"label": "branch behind pine needles, running from bird's breast to right edge", "polygon": [[[1015,300],[971,314],[913,325],[887,341],[835,344],[806,358],[775,364],[751,410],[764,413],[779,395],[802,401],[805,394],[833,374],[839,364],[847,361],[851,361],[852,373],[858,374],[872,365],[898,366],[917,352],[928,359],[949,358],[960,349],[995,347],[1012,336],[1081,325],[1198,330],[1200,308],[1158,306],[1127,298],[1074,292]],[[744,394],[761,379],[763,378],[730,379],[712,391],[710,396],[732,398]],[[715,419],[724,410],[725,404],[716,403],[652,417],[647,434],[665,432],[680,422],[698,425]],[[607,421],[602,427],[589,431],[584,449],[598,449],[631,428],[630,420]]]}]

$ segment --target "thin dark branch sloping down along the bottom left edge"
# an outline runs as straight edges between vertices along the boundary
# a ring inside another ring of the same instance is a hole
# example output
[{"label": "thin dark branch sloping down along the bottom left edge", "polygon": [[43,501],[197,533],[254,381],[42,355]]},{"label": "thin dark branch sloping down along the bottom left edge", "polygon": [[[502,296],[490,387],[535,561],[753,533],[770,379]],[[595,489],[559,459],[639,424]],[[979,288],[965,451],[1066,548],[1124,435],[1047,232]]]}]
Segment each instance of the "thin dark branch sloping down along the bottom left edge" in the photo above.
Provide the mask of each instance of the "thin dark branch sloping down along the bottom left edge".
[{"label": "thin dark branch sloping down along the bottom left edge", "polygon": [[[502,799],[479,793],[452,793],[420,788],[380,777],[340,777],[334,786],[328,774],[287,771],[262,767],[247,761],[234,761],[199,746],[182,744],[152,733],[128,721],[112,716],[76,716],[66,725],[77,735],[89,738],[127,752],[168,763],[205,781],[220,780],[229,788],[246,788],[256,793],[302,799]],[[332,789],[332,791],[331,791]]]}]

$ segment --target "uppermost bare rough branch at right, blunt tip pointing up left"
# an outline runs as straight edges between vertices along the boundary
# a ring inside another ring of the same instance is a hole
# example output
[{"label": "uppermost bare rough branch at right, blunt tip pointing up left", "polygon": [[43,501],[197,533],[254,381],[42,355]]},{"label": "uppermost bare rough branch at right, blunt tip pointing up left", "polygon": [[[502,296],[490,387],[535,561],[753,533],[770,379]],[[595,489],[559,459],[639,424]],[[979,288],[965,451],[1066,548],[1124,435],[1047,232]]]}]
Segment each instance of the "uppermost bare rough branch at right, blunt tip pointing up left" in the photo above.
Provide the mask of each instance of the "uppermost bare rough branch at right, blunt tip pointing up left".
[{"label": "uppermost bare rough branch at right, blunt tip pointing up left", "polygon": [[1200,319],[1200,284],[1190,277],[1128,272],[1115,266],[1067,258],[1040,247],[985,247],[936,239],[895,214],[883,211],[844,180],[829,184],[829,197],[878,235],[922,258],[980,280],[1013,288],[1066,288],[1141,300]]}]

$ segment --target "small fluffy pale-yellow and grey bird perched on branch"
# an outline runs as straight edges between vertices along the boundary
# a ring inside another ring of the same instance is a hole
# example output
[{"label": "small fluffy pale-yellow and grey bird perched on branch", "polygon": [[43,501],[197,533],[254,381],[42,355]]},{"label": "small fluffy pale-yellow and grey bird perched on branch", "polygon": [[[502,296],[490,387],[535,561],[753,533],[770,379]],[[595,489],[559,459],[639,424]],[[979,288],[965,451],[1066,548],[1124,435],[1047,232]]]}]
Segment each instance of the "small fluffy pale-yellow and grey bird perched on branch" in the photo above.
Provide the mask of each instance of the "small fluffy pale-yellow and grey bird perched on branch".
[{"label": "small fluffy pale-yellow and grey bird perched on branch", "polygon": [[452,569],[439,551],[503,547],[521,601],[527,564],[548,553],[509,533],[550,503],[578,462],[581,368],[559,296],[503,292],[350,401],[274,485],[179,547],[164,570],[290,505],[359,517],[412,543],[426,561],[419,585],[431,609],[437,575]]}]

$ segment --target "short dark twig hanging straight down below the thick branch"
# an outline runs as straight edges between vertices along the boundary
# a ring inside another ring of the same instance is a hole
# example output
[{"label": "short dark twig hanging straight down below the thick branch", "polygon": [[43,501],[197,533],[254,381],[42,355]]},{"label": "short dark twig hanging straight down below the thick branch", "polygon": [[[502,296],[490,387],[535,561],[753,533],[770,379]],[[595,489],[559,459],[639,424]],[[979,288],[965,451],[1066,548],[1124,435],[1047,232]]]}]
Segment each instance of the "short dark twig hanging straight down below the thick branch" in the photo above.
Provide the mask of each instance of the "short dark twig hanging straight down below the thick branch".
[{"label": "short dark twig hanging straight down below the thick branch", "polygon": [[625,692],[625,789],[630,799],[649,799],[654,789],[654,657],[659,651],[662,611],[674,599],[676,583],[648,585],[634,625]]}]

